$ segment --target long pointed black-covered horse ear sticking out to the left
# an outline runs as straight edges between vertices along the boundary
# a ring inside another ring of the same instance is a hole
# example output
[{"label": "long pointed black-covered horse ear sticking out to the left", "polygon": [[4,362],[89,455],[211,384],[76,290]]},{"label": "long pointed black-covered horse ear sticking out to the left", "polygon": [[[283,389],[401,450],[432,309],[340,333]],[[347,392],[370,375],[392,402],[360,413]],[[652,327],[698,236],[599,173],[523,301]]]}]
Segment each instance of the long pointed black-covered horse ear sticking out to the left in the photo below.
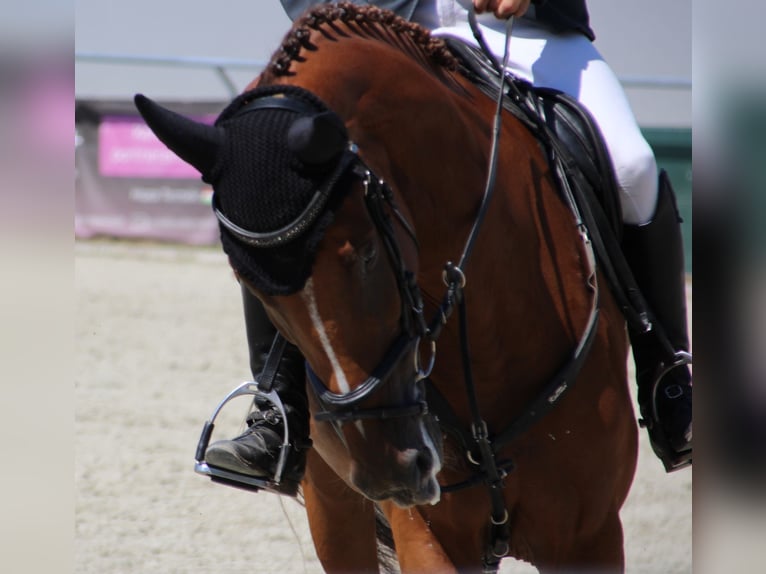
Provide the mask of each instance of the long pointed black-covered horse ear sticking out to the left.
[{"label": "long pointed black-covered horse ear sticking out to the left", "polygon": [[196,167],[202,178],[210,174],[223,143],[223,130],[195,122],[163,108],[142,94],[133,101],[146,125],[178,157]]}]

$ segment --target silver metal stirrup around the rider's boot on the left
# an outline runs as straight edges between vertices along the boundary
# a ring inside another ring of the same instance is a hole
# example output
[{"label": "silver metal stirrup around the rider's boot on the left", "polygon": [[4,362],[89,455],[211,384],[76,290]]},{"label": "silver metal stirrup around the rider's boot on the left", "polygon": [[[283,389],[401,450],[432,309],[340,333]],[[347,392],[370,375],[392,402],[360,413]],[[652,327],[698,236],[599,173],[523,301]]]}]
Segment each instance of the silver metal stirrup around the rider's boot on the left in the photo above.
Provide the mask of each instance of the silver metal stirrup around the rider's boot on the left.
[{"label": "silver metal stirrup around the rider's boot on the left", "polygon": [[202,428],[202,434],[200,435],[199,443],[197,444],[197,452],[195,454],[194,471],[209,476],[213,482],[218,482],[228,486],[234,486],[236,488],[242,488],[244,490],[259,491],[266,490],[275,494],[283,494],[287,496],[296,496],[298,493],[298,483],[292,480],[285,480],[282,477],[282,473],[285,469],[285,463],[287,461],[287,454],[290,451],[290,430],[287,423],[282,425],[284,427],[284,434],[282,435],[282,446],[279,451],[279,459],[277,460],[276,471],[274,477],[271,479],[258,478],[239,472],[233,472],[223,468],[215,466],[209,466],[205,461],[205,454],[207,452],[208,444],[210,443],[210,437],[213,434],[215,427],[215,419],[221,412],[221,409],[230,400],[243,395],[255,395],[262,399],[269,401],[273,404],[283,421],[287,421],[287,413],[285,412],[284,404],[277,395],[276,391],[264,392],[262,391],[257,382],[245,381],[233,391],[231,391],[226,397],[218,404],[213,415]]}]

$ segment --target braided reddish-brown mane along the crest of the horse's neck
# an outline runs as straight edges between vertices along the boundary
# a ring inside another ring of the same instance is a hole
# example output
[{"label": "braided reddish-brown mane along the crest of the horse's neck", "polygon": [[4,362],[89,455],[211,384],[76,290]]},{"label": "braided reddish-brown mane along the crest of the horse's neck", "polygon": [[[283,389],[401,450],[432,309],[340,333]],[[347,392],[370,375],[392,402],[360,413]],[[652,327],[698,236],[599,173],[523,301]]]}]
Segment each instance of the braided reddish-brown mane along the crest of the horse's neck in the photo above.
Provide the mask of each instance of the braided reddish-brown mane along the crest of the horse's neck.
[{"label": "braided reddish-brown mane along the crest of the horse's neck", "polygon": [[296,20],[282,45],[271,57],[265,72],[273,77],[290,76],[290,65],[305,58],[302,50],[314,51],[317,46],[310,40],[312,30],[338,31],[333,25],[343,22],[353,27],[360,36],[374,37],[402,50],[424,64],[454,71],[457,60],[440,39],[414,22],[408,22],[388,10],[377,6],[357,6],[349,2],[320,4]]}]

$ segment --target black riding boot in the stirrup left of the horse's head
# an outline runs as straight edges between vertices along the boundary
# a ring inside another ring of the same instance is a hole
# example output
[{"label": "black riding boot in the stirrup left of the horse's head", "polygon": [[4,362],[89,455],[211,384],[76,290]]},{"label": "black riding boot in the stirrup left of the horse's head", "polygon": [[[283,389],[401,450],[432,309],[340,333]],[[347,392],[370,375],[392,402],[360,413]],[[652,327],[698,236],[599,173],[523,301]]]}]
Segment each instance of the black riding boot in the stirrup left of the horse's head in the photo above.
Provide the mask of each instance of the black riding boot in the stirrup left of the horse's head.
[{"label": "black riding boot in the stirrup left of the horse's head", "polygon": [[[277,330],[266,315],[263,304],[244,285],[242,299],[250,369],[259,381]],[[306,450],[311,446],[305,373],[303,355],[295,345],[286,343],[272,387],[284,405],[290,436],[290,448],[278,483],[274,479],[284,440],[285,421],[276,405],[258,395],[254,401],[256,408],[246,420],[247,430],[232,440],[210,445],[205,452],[207,464],[262,478],[265,488],[294,495],[306,468]]]}]

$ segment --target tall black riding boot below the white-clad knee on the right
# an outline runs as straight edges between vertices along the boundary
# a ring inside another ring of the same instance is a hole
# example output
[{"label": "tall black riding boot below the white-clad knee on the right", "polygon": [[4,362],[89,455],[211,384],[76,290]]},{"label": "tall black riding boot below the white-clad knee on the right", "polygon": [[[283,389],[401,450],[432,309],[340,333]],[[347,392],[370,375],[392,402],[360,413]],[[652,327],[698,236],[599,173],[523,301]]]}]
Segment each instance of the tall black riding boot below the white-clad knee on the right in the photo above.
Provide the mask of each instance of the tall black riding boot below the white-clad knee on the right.
[{"label": "tall black riding boot below the white-clad knee on the right", "polygon": [[692,458],[691,355],[680,221],[670,180],[661,171],[654,218],[644,225],[626,225],[623,238],[625,257],[655,324],[647,333],[630,333],[641,424],[667,472],[688,466]]}]

